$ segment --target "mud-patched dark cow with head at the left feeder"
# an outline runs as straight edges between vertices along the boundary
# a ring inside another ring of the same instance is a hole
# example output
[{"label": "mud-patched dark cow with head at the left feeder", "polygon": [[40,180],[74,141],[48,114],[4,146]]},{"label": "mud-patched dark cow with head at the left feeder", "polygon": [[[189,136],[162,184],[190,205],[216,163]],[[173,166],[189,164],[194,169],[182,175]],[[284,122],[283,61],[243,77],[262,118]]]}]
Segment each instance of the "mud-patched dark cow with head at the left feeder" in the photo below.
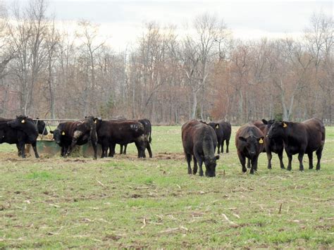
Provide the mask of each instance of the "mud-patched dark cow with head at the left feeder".
[{"label": "mud-patched dark cow with head at the left feeder", "polygon": [[61,146],[61,156],[68,156],[75,145],[92,142],[94,160],[97,159],[97,118],[88,116],[85,120],[60,123],[56,130],[50,131],[56,144]]}]

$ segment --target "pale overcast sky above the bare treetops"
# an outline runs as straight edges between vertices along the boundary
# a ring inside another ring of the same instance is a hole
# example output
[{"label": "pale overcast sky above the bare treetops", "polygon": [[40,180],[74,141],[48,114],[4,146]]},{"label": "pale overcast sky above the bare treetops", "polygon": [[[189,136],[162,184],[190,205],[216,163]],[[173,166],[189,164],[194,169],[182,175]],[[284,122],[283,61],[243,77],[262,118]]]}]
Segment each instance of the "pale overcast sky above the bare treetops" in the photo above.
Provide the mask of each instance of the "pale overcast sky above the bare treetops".
[{"label": "pale overcast sky above the bare treetops", "polygon": [[238,38],[295,37],[302,34],[312,13],[320,11],[333,16],[333,1],[49,0],[49,12],[55,13],[57,20],[100,23],[102,33],[110,37],[109,43],[116,50],[134,43],[143,23],[152,20],[181,28],[196,15],[212,13],[223,18]]}]

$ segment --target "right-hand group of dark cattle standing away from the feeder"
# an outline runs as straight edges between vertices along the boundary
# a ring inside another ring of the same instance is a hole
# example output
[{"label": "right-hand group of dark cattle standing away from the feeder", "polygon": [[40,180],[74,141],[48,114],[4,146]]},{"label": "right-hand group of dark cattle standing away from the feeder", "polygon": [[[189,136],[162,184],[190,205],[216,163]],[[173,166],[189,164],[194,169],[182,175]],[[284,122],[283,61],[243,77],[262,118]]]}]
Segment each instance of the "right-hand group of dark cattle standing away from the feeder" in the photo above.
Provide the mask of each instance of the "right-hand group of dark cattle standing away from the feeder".
[{"label": "right-hand group of dark cattle standing away from the feeder", "polygon": [[[226,140],[230,141],[230,123],[219,120],[216,123],[205,123],[198,120],[190,120],[182,126],[182,142],[187,159],[188,174],[197,173],[197,163],[199,165],[199,175],[203,175],[202,164],[204,163],[208,177],[216,176],[216,161],[219,158],[219,146]],[[309,156],[309,169],[313,166],[313,152],[316,151],[318,162],[316,170],[320,170],[320,160],[325,144],[325,126],[321,120],[311,118],[303,123],[292,123],[275,120],[256,120],[247,123],[237,130],[235,135],[235,146],[237,156],[242,165],[242,172],[254,174],[257,170],[257,161],[261,152],[266,152],[268,157],[268,168],[271,169],[272,152],[278,154],[280,158],[280,168],[285,168],[283,164],[283,149],[287,154],[287,170],[291,170],[292,155],[298,154],[299,170],[304,170],[303,156]],[[218,156],[215,156],[218,146]],[[246,168],[247,158],[247,168]],[[194,161],[191,168],[190,162]]]}]

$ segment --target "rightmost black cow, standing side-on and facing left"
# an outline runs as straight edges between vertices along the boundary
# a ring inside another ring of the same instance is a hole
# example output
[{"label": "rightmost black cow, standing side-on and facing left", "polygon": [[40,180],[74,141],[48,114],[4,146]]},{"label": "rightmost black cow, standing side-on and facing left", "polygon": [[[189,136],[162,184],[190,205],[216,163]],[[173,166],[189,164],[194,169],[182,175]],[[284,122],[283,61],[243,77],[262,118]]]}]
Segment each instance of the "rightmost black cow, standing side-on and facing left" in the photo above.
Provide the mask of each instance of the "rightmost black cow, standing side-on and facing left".
[{"label": "rightmost black cow, standing side-on and facing left", "polygon": [[313,168],[313,152],[316,151],[318,162],[316,170],[320,170],[320,160],[325,144],[325,126],[318,118],[311,118],[302,123],[276,122],[268,131],[268,139],[283,139],[285,152],[291,170],[292,155],[298,154],[299,170],[303,171],[304,154],[309,156],[309,169]]}]

